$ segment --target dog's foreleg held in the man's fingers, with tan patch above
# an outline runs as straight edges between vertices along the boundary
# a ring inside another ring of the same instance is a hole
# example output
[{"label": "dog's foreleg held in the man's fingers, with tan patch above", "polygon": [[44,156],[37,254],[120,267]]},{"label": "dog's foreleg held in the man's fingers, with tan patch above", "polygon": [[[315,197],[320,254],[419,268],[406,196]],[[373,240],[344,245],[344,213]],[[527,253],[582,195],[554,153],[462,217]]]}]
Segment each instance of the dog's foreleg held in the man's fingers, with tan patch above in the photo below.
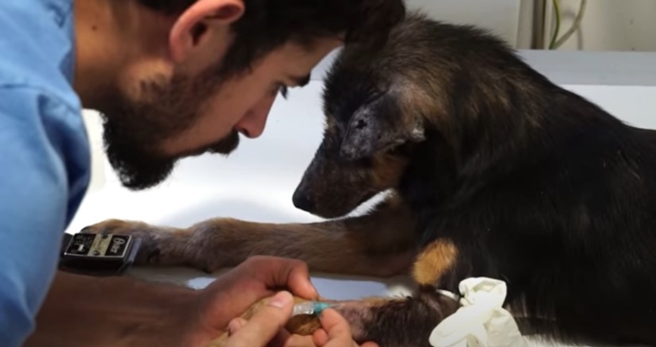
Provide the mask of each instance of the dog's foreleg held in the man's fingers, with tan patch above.
[{"label": "dog's foreleg held in the man's fingers, with tan patch above", "polygon": [[[446,238],[425,247],[413,265],[413,277],[420,287],[411,297],[327,302],[348,320],[356,342],[373,341],[381,347],[429,347],[433,329],[459,308],[451,296],[436,291],[436,283],[453,272],[457,256],[457,247]],[[242,317],[248,320],[266,300],[253,305]],[[296,316],[286,325],[288,331],[298,335],[312,335],[320,327],[314,316]],[[218,338],[213,347],[223,346],[226,338],[227,334]]]}]

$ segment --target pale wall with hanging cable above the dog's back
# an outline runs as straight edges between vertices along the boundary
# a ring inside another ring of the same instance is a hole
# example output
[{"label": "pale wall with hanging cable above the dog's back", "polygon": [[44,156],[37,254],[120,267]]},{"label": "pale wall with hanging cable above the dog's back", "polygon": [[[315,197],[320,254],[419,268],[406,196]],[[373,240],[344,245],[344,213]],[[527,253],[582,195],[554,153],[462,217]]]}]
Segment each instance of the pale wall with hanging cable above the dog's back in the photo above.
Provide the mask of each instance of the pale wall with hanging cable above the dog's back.
[{"label": "pale wall with hanging cable above the dog's back", "polygon": [[[554,24],[552,0],[546,3],[544,41]],[[448,22],[491,29],[517,48],[530,48],[536,0],[406,0]],[[560,0],[561,35],[573,23],[581,0]],[[560,50],[656,51],[656,0],[588,0],[581,30]],[[546,48],[546,47],[545,47]]]}]

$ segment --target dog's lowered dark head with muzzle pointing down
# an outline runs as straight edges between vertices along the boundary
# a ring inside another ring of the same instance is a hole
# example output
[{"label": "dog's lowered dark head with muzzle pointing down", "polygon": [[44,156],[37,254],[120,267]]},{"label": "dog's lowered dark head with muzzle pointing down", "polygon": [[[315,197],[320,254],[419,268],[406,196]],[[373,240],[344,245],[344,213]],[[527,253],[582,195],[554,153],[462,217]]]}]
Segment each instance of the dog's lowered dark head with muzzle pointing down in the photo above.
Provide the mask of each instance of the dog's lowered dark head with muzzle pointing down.
[{"label": "dog's lowered dark head with muzzle pointing down", "polygon": [[[424,139],[422,117],[409,107],[414,84],[373,60],[345,50],[323,91],[323,141],[293,195],[294,205],[340,217],[377,193],[397,187],[413,146]],[[365,59],[365,60],[363,60]]]}]

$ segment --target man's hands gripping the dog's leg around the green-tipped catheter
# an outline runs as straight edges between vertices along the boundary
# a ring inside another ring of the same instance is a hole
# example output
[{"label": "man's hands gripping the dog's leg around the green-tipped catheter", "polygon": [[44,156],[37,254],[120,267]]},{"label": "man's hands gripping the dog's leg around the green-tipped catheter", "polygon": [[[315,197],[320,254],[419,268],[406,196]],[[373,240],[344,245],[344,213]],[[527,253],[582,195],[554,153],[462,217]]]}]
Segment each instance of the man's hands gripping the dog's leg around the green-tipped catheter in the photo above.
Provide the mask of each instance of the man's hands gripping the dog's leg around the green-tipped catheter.
[{"label": "man's hands gripping the dog's leg around the green-tipped catheter", "polygon": [[[291,293],[277,293],[249,321],[237,318],[255,302],[274,295],[276,289],[289,289]],[[287,333],[283,327],[291,318],[292,294],[308,300],[318,299],[305,263],[277,257],[253,257],[245,261],[204,289],[199,326],[207,327],[207,331],[199,331],[192,346],[205,346],[226,329],[230,333],[228,347],[358,346],[353,341],[348,322],[334,310],[322,314],[323,329],[314,337]],[[367,343],[363,346],[376,345]]]}]

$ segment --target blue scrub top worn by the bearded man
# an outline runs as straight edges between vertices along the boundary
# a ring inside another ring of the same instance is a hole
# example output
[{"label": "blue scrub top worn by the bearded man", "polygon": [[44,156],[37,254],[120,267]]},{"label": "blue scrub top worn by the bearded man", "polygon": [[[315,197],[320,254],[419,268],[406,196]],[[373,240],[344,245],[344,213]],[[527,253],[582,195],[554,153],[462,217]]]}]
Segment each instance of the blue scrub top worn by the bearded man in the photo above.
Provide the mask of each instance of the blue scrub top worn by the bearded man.
[{"label": "blue scrub top worn by the bearded man", "polygon": [[89,185],[73,15],[73,0],[0,1],[0,346],[33,331]]}]

